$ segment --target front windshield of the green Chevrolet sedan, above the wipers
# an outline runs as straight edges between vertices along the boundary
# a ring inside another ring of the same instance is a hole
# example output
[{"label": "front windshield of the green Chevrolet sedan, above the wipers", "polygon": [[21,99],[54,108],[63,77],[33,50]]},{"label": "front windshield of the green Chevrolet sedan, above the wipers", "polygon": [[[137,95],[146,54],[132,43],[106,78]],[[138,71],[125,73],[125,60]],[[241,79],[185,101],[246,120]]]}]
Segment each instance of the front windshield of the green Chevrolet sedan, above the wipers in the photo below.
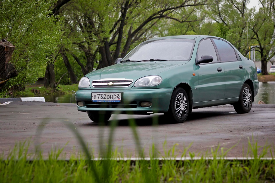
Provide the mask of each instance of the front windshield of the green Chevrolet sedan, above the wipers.
[{"label": "front windshield of the green Chevrolet sedan, above the wipers", "polygon": [[194,39],[159,39],[146,41],[133,49],[123,60],[190,60]]}]

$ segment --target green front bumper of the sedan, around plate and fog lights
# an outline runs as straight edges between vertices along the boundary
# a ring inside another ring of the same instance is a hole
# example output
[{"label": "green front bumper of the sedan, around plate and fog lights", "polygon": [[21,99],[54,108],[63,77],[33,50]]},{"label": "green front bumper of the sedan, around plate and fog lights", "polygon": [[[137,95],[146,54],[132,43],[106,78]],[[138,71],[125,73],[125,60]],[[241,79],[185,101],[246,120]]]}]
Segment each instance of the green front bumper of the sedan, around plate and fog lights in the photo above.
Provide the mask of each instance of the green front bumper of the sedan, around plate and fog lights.
[{"label": "green front bumper of the sedan, around plate and fog lights", "polygon": [[[167,112],[174,88],[156,89],[80,89],[75,94],[78,111],[133,111],[133,112]],[[92,92],[121,92],[121,102],[92,102]],[[151,102],[150,107],[141,107],[141,102]]]}]

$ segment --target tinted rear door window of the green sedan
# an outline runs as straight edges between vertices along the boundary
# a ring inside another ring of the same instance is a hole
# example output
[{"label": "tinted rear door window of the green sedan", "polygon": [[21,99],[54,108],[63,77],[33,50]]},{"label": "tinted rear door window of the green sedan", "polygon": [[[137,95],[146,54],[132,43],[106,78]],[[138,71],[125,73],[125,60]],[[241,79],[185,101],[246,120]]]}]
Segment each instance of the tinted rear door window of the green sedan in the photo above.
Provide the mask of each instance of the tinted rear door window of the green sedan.
[{"label": "tinted rear door window of the green sedan", "polygon": [[236,61],[236,53],[231,45],[221,39],[213,39],[221,61]]}]

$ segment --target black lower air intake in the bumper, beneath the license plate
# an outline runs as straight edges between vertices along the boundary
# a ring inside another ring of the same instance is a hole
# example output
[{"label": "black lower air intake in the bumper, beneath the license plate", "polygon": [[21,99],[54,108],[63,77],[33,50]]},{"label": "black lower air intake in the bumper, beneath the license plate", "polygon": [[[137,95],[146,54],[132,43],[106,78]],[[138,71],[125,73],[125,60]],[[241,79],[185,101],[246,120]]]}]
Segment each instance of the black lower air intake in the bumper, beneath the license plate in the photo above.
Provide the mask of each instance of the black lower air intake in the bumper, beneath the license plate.
[{"label": "black lower air intake in the bumper, beneath the license plate", "polygon": [[137,108],[137,102],[132,101],[129,104],[123,102],[93,102],[85,101],[87,108]]}]

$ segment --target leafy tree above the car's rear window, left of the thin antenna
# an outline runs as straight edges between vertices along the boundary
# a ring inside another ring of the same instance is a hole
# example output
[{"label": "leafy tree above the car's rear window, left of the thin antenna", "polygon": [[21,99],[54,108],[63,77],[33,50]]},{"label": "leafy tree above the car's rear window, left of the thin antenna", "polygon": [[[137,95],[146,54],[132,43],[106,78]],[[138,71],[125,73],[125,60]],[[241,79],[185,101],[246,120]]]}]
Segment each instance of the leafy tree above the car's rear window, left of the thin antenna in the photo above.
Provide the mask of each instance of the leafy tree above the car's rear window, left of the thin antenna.
[{"label": "leafy tree above the car's rear window, left of the thin antenna", "polygon": [[247,19],[252,10],[249,0],[210,0],[208,16],[218,23],[217,36],[227,39],[243,55],[247,55]]}]

